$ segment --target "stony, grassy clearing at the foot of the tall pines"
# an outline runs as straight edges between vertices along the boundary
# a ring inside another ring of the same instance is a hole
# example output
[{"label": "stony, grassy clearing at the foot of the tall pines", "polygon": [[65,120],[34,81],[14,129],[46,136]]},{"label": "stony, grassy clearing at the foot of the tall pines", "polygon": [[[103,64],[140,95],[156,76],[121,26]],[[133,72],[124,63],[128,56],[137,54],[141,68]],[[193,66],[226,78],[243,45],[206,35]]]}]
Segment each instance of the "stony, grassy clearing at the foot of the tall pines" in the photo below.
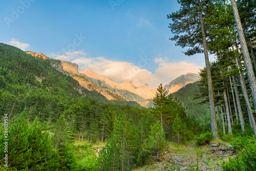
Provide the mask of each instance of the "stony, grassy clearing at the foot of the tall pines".
[{"label": "stony, grassy clearing at the foot of the tall pines", "polygon": [[136,168],[134,171],[223,170],[222,162],[228,161],[228,157],[235,155],[229,145],[221,140],[212,141],[210,144],[202,146],[197,146],[194,142],[185,145],[170,143],[160,161],[154,161],[152,164]]}]

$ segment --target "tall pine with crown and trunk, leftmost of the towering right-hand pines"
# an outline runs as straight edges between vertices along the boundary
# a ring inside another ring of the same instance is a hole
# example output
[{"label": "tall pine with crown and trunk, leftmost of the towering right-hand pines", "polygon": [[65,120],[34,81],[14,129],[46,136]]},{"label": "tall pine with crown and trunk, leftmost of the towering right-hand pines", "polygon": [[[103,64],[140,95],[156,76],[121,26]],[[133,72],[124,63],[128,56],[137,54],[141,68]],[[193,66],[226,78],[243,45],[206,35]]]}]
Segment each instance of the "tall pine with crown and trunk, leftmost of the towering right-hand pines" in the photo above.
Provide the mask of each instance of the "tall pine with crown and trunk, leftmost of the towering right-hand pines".
[{"label": "tall pine with crown and trunk, leftmost of the towering right-hand pines", "polygon": [[198,0],[181,0],[179,11],[167,15],[167,18],[173,20],[173,24],[169,24],[169,28],[175,34],[170,40],[176,40],[176,46],[192,47],[188,49],[186,55],[194,55],[196,53],[204,53],[205,65],[208,82],[208,93],[210,102],[210,118],[211,118],[211,131],[215,139],[219,139],[218,126],[216,120],[214,91],[212,86],[210,63],[208,57],[208,47],[206,42],[206,30],[204,23],[204,14],[207,14],[206,2],[209,4],[211,1],[198,1]]}]

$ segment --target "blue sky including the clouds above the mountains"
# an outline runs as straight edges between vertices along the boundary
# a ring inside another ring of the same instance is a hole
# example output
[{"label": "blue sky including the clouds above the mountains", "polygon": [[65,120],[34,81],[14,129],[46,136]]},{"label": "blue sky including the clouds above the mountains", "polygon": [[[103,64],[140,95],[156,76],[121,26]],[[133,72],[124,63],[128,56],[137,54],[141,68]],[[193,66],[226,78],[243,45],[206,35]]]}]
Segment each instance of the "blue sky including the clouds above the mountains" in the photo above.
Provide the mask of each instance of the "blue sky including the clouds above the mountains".
[{"label": "blue sky including the clouds above the mountains", "polygon": [[[4,1],[1,42],[76,62],[116,81],[169,82],[205,66],[169,40],[174,0]],[[213,59],[212,59],[213,60]]]}]

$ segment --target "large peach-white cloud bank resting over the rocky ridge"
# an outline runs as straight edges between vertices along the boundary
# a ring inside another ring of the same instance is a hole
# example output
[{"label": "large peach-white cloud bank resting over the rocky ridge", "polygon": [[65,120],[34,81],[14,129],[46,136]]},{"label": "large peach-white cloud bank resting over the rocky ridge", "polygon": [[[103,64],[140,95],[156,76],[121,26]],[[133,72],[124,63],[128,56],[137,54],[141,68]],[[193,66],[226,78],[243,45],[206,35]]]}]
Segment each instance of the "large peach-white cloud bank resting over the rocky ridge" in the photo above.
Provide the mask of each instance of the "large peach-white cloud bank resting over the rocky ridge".
[{"label": "large peach-white cloud bank resting over the rocky ridge", "polygon": [[79,71],[89,69],[97,74],[108,76],[116,82],[123,82],[124,80],[131,81],[135,87],[147,83],[151,87],[155,87],[160,83],[169,83],[173,79],[188,72],[198,73],[203,68],[194,63],[187,61],[169,62],[167,57],[160,57],[154,59],[158,65],[155,74],[142,69],[134,63],[125,61],[115,61],[106,59],[104,57],[85,57],[83,51],[66,52],[58,55],[51,53],[50,57],[55,59],[69,60],[77,63]]}]

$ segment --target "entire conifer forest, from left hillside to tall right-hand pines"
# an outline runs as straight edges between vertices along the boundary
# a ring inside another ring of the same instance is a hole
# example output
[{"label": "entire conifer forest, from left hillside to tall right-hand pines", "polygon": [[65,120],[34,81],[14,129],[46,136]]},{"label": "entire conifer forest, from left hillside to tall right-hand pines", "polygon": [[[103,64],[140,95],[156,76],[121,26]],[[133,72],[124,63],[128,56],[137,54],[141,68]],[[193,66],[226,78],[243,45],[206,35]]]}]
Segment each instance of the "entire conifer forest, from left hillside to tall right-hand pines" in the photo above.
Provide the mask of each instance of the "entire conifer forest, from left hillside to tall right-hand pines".
[{"label": "entire conifer forest, from left hillside to tall right-hand pines", "polygon": [[0,43],[0,170],[256,170],[256,1],[177,2],[166,38],[205,67],[149,108]]}]

